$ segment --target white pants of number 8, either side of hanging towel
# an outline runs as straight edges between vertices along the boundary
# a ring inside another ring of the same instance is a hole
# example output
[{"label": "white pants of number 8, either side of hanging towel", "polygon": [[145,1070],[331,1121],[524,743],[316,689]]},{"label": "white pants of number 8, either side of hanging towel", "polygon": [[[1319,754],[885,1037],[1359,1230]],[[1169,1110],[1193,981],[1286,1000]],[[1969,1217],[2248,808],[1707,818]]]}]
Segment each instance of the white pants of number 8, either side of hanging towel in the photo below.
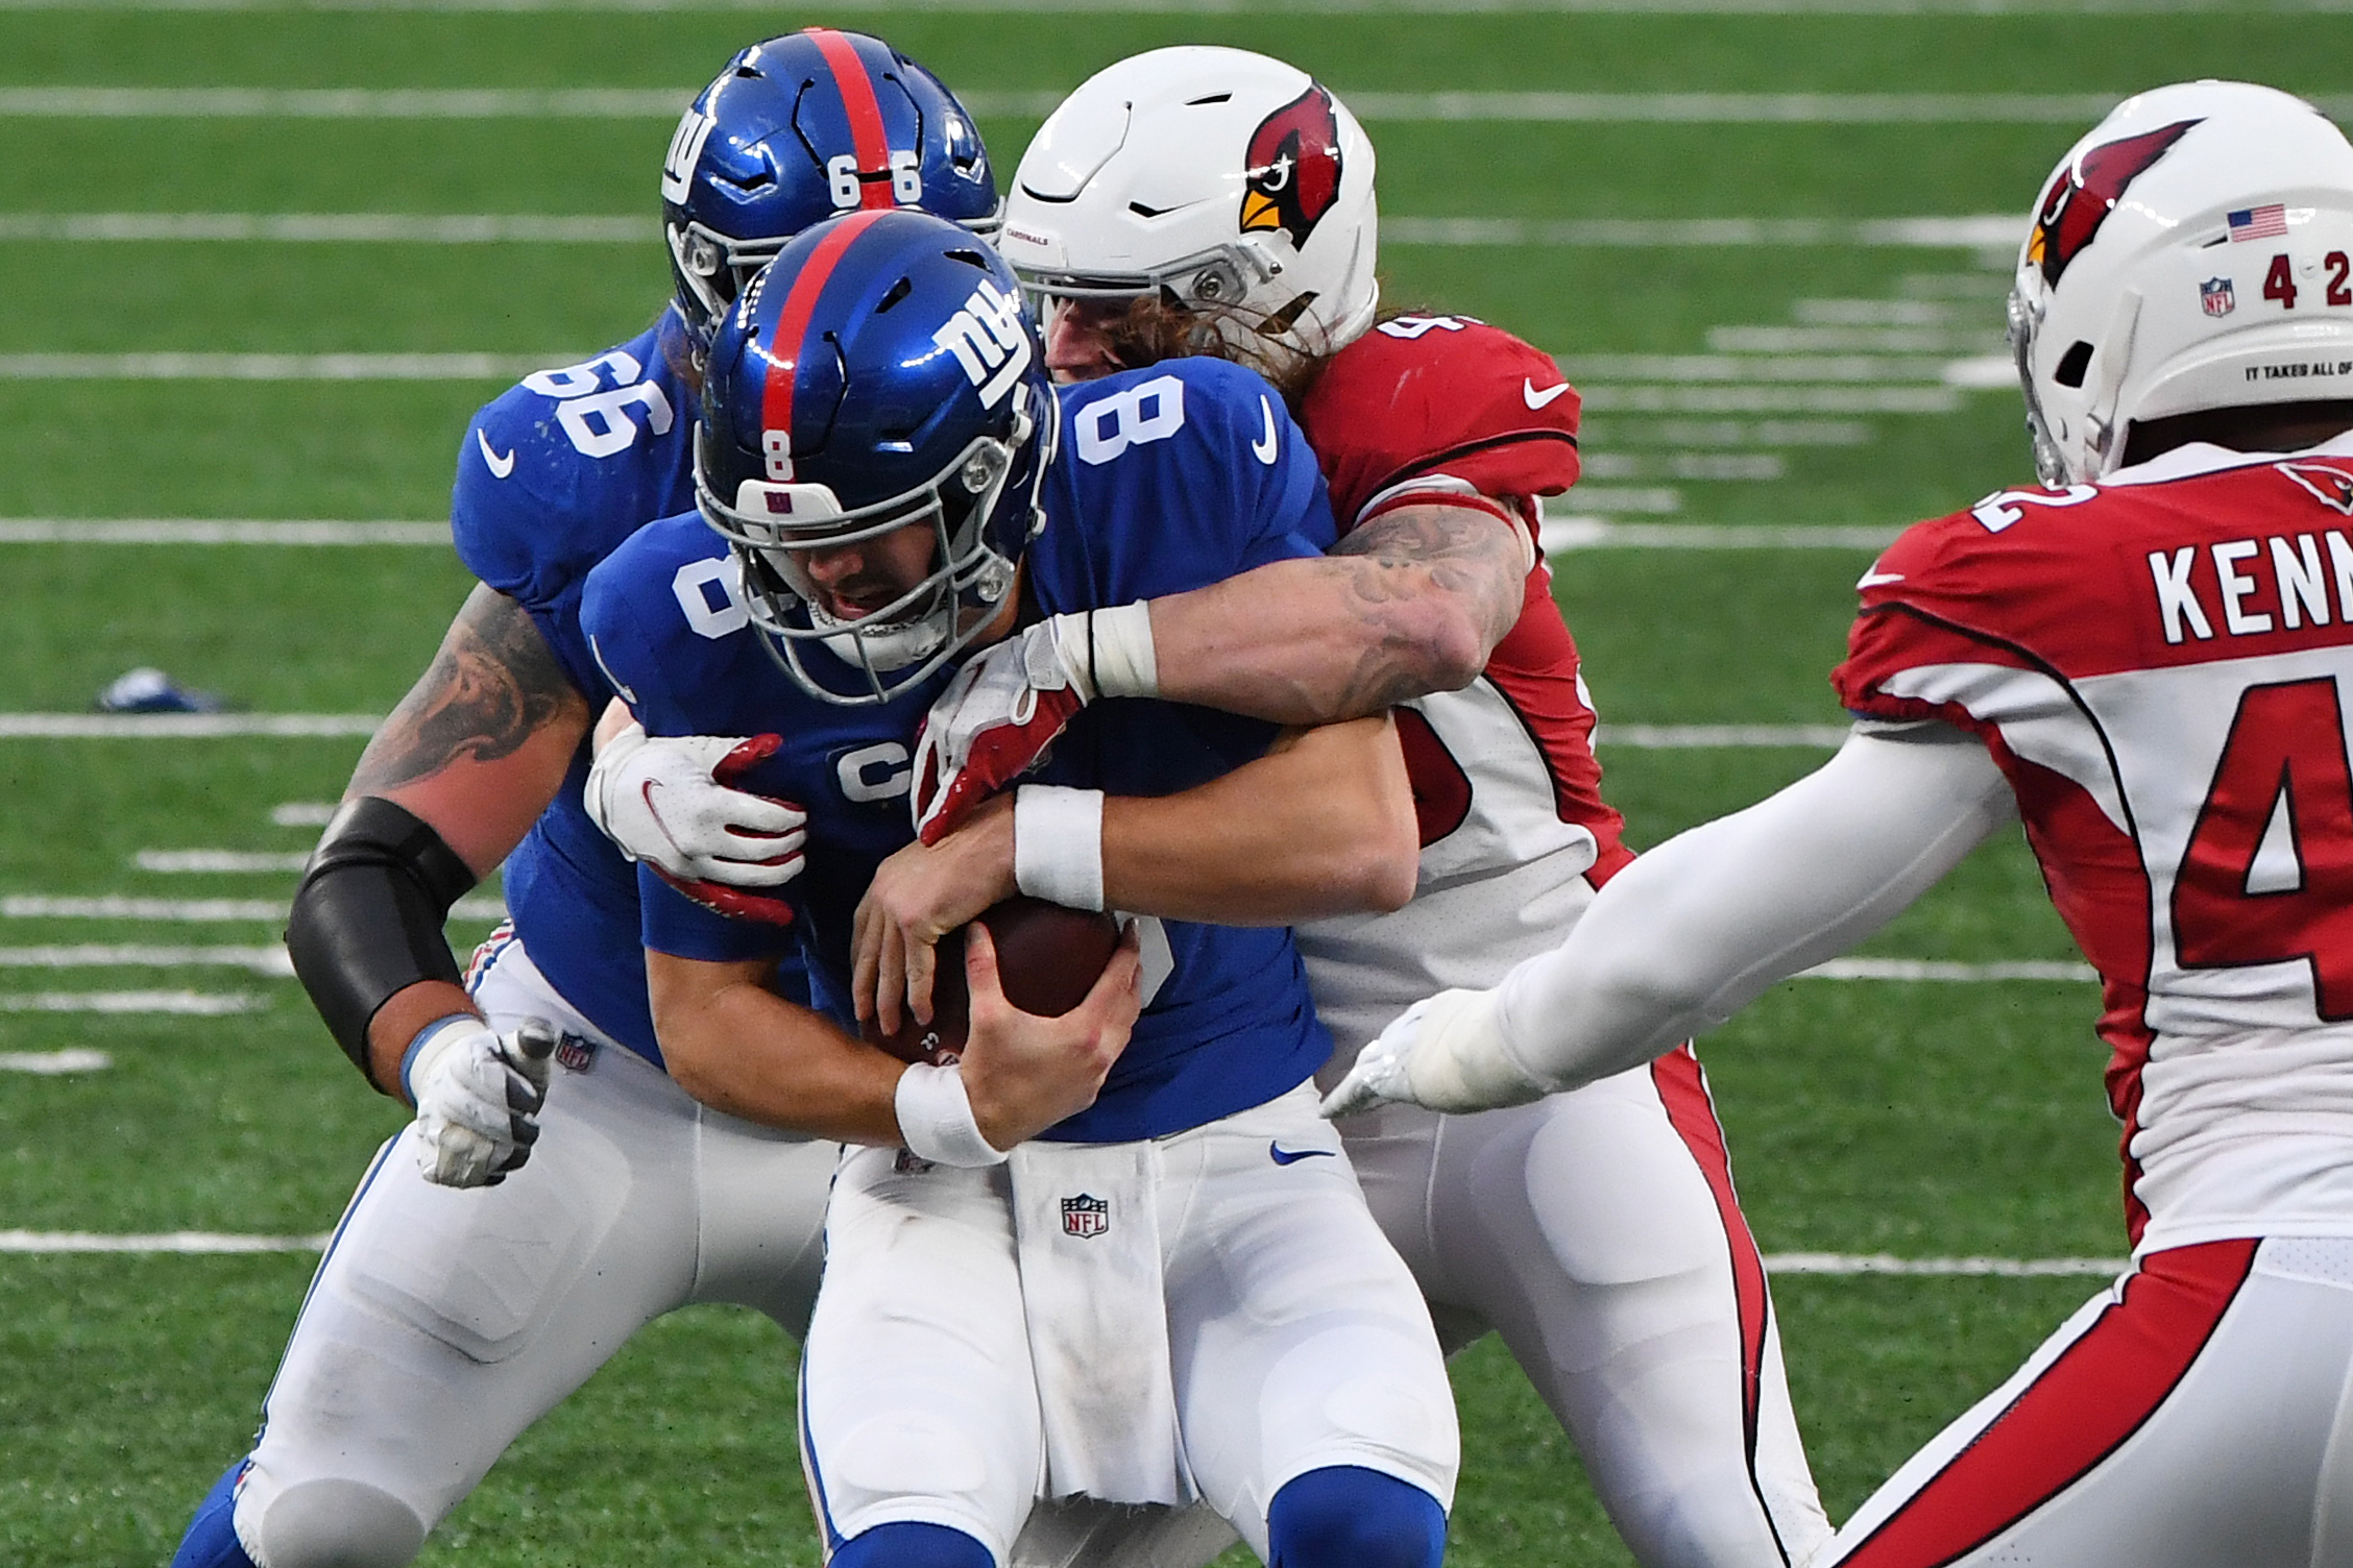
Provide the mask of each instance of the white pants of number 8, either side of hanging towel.
[{"label": "white pants of number 8, either side of hanging towel", "polygon": [[[1174,1418],[1200,1497],[1261,1559],[1266,1507],[1311,1469],[1377,1469],[1449,1505],[1459,1443],[1431,1316],[1313,1088],[1153,1143]],[[828,1544],[920,1521],[1007,1559],[1047,1469],[1012,1215],[1007,1166],[845,1154],[800,1378]]]}]

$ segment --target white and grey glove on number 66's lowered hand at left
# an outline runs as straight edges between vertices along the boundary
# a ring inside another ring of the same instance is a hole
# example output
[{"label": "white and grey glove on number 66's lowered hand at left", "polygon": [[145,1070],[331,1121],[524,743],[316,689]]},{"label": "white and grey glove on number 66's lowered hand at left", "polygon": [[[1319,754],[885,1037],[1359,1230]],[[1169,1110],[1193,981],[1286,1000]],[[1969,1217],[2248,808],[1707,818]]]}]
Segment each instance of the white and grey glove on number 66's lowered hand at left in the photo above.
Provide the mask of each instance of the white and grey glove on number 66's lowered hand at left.
[{"label": "white and grey glove on number 66's lowered hand at left", "polygon": [[555,1030],[499,1034],[480,1018],[426,1025],[400,1067],[416,1103],[416,1164],[440,1187],[496,1187],[539,1143]]}]

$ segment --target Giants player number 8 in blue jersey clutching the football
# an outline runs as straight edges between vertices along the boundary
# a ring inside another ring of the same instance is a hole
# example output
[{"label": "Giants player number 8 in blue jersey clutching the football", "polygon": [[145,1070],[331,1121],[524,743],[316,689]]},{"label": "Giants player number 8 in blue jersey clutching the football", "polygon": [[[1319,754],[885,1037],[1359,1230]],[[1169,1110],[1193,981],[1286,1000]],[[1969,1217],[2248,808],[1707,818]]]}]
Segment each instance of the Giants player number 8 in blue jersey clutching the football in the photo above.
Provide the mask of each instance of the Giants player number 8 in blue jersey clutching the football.
[{"label": "Giants player number 8 in blue jersey clutching the football", "polygon": [[[1064,1039],[1016,1046],[974,938],[955,1063],[908,1065],[861,1044],[845,1001],[828,1016],[769,985],[800,940],[812,990],[847,994],[852,912],[913,837],[915,722],[972,649],[1332,543],[1280,395],[1217,360],[1056,393],[1002,259],[922,214],[852,214],[788,244],[729,313],[699,442],[701,517],[624,543],[581,618],[652,736],[774,733],[744,785],[807,813],[791,926],[652,872],[640,891],[678,1081],[849,1145],[800,1380],[831,1561],[991,1568],[1035,1497],[1092,1495],[1202,1497],[1289,1568],[1438,1563],[1452,1394],[1313,1112],[1329,1034],[1287,929],[1144,922],[1144,1011],[1118,1056],[1106,992],[1134,952]],[[1275,733],[1101,703],[1016,811],[1181,790]],[[1299,745],[1353,748],[1386,780],[1393,832],[1372,858],[1409,889],[1391,722]],[[1061,903],[1101,905],[1082,856],[1035,870]]]}]

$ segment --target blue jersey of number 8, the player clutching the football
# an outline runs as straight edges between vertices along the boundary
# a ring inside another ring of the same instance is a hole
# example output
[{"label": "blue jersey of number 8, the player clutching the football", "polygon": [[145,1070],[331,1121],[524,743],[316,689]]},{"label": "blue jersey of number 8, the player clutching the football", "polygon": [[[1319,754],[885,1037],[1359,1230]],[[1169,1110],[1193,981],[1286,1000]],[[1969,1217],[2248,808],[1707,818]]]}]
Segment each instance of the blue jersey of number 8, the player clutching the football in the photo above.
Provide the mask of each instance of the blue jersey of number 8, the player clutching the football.
[{"label": "blue jersey of number 8, the player clutching the football", "polygon": [[[1064,447],[1024,592],[1038,611],[1127,604],[1332,545],[1315,456],[1254,374],[1174,360],[1061,388]],[[595,651],[649,733],[776,731],[746,788],[809,811],[807,870],[788,884],[812,992],[847,997],[849,922],[875,865],[913,839],[908,757],[934,675],[885,705],[812,698],[751,628],[725,543],[694,515],[635,534],[588,578]],[[833,656],[805,646],[819,665]],[[819,679],[847,670],[819,668]],[[1275,729],[1174,703],[1096,703],[1056,741],[1049,783],[1169,795],[1261,755]],[[769,957],[793,940],[642,879],[645,943],[689,959]],[[1271,1100],[1329,1056],[1287,929],[1165,922],[1174,966],[1101,1095],[1045,1138],[1155,1138]],[[847,1027],[847,1009],[835,1006]]]}]

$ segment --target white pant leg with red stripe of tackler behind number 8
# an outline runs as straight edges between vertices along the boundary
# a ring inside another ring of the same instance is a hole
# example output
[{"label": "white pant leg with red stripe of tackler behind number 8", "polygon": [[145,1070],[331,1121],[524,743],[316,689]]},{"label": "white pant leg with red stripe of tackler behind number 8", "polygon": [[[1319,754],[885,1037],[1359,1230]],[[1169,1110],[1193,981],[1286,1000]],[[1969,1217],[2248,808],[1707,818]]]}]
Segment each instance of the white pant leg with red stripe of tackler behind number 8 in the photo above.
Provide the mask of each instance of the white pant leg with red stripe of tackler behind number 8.
[{"label": "white pant leg with red stripe of tackler behind number 8", "polygon": [[1831,1537],[1689,1046],[1534,1105],[1339,1128],[1440,1338],[1504,1335],[1642,1568],[1777,1568]]}]

